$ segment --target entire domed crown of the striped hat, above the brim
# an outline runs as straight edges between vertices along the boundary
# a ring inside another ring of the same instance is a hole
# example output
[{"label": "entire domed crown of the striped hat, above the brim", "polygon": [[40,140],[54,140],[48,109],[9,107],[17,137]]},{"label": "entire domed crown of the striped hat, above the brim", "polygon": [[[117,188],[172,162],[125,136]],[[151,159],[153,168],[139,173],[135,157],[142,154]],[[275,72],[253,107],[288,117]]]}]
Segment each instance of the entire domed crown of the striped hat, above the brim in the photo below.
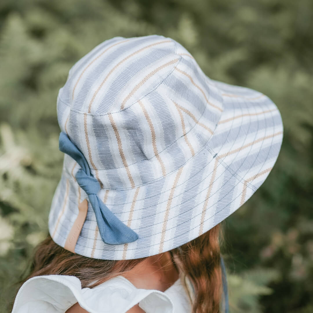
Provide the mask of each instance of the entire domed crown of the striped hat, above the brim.
[{"label": "entire domed crown of the striped hat, above the brim", "polygon": [[222,110],[192,55],[157,35],[99,44],[73,65],[57,100],[61,130],[108,189],[177,170],[208,142]]}]

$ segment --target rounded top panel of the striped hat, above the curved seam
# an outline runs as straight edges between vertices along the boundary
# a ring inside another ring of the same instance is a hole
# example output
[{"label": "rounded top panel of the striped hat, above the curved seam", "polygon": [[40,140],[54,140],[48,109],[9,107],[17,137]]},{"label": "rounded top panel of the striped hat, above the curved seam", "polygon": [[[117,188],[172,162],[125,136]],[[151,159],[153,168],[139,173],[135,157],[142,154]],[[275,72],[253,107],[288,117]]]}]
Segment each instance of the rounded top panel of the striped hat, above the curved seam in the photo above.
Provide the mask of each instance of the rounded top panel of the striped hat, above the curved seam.
[{"label": "rounded top panel of the striped hat, above the curved seam", "polygon": [[92,115],[122,110],[155,88],[178,63],[171,38],[113,39],[95,47],[70,69],[59,99],[71,110]]}]

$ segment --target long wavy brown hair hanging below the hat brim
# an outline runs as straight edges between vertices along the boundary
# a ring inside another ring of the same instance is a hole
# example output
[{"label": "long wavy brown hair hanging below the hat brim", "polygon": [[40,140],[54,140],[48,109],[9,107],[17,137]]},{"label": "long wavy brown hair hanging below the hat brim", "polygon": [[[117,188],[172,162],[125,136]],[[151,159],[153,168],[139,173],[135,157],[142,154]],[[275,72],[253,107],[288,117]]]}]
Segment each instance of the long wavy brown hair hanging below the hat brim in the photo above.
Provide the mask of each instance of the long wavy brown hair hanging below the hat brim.
[{"label": "long wavy brown hair hanging below the hat brim", "polygon": [[[170,250],[180,270],[194,289],[193,313],[219,313],[222,300],[220,243],[221,223],[187,244]],[[96,285],[132,269],[141,259],[101,260],[74,254],[60,247],[50,236],[38,244],[31,265],[31,273],[21,282],[39,275],[72,275],[81,281],[82,288]],[[96,281],[96,282],[95,282]]]}]

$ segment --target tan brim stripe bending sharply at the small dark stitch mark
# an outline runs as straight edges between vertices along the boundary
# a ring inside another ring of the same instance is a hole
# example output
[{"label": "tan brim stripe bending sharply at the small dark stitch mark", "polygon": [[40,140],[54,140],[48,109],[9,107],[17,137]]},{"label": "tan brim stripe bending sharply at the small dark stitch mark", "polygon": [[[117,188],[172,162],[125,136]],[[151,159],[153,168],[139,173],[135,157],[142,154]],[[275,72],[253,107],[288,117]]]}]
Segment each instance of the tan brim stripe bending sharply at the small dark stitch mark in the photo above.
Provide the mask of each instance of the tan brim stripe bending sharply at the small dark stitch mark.
[{"label": "tan brim stripe bending sharply at the small dark stitch mark", "polygon": [[[265,139],[269,139],[271,137],[274,137],[274,136],[277,136],[277,135],[280,135],[282,134],[281,131],[273,134],[273,135],[269,135],[269,136],[265,136],[263,138],[259,138],[257,140],[254,140],[240,148],[237,148],[237,149],[234,149],[232,151],[229,151],[227,153],[224,153],[220,156],[217,156],[216,159],[215,159],[215,163],[214,163],[214,167],[213,167],[213,172],[212,172],[212,177],[211,177],[211,181],[210,181],[210,184],[209,184],[209,187],[208,187],[208,192],[207,192],[207,195],[206,195],[206,198],[205,198],[205,202],[204,202],[204,205],[203,205],[203,210],[202,210],[202,215],[201,215],[201,222],[200,222],[200,228],[199,228],[199,236],[202,234],[203,232],[203,223],[204,223],[204,217],[205,217],[205,213],[206,213],[206,210],[207,210],[207,205],[208,205],[208,198],[210,197],[210,194],[211,194],[211,191],[212,191],[212,187],[213,187],[213,183],[214,183],[214,179],[215,179],[215,176],[216,176],[216,170],[217,170],[217,166],[218,166],[218,160],[225,157],[225,156],[228,156],[228,155],[231,155],[235,152],[238,152],[244,148],[247,148],[249,146],[252,146],[253,144],[259,142],[259,141],[262,141],[262,140],[265,140]],[[261,174],[261,173],[260,173]],[[256,178],[256,177],[255,177]],[[250,179],[250,178],[249,178]],[[248,180],[247,180],[248,182]],[[245,183],[246,184],[246,183]],[[245,197],[245,194],[244,194],[244,197]]]}]

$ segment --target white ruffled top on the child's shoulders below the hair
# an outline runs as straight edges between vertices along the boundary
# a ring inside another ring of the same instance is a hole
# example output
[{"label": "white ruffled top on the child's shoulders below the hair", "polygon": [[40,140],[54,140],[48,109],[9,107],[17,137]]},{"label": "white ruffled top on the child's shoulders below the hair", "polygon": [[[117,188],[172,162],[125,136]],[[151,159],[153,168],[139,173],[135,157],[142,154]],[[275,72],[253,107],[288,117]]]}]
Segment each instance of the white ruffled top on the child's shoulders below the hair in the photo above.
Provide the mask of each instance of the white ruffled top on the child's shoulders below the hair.
[{"label": "white ruffled top on the child's shoulders below the hair", "polygon": [[81,288],[74,276],[36,276],[19,289],[12,313],[64,313],[76,302],[90,313],[125,313],[138,303],[146,313],[189,313],[184,286],[180,278],[164,292],[139,289],[117,276],[90,289]]}]

